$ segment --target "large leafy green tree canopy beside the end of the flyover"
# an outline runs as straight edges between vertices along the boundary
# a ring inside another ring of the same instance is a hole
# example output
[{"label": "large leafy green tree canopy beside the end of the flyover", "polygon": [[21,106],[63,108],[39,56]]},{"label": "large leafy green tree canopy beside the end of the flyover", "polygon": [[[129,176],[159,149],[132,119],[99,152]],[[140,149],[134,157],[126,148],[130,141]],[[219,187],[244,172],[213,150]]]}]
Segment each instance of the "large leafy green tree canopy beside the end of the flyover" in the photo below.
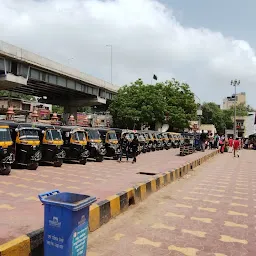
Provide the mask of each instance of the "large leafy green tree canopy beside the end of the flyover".
[{"label": "large leafy green tree canopy beside the end of the flyover", "polygon": [[196,118],[197,105],[189,85],[175,79],[156,85],[138,79],[121,87],[109,106],[114,125],[120,128],[141,125],[154,128],[156,123],[168,123],[170,129],[184,129]]}]

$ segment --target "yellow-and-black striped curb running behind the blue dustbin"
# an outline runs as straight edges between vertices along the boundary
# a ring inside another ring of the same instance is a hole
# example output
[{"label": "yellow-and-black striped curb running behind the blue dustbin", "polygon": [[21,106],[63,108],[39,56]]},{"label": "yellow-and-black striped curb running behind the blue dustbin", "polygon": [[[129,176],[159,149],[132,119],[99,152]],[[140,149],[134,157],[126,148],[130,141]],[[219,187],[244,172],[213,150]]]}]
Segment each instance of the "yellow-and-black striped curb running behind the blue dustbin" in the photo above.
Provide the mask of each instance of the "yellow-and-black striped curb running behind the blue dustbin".
[{"label": "yellow-and-black striped curb running behind the blue dustbin", "polygon": [[[215,150],[199,159],[171,171],[155,175],[152,179],[138,183],[131,188],[107,197],[105,200],[92,204],[89,215],[90,232],[95,231],[110,219],[126,211],[130,205],[143,201],[151,193],[183,177],[218,153],[219,150]],[[0,245],[0,256],[43,256],[43,237],[43,228],[20,236]]]}]

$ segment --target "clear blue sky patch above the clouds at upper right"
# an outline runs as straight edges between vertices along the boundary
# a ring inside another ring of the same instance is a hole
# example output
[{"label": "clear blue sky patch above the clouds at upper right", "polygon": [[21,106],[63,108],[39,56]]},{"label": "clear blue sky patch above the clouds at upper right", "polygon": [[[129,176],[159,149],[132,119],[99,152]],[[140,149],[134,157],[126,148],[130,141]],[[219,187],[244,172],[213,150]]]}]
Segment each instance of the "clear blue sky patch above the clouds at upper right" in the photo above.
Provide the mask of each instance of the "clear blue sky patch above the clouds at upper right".
[{"label": "clear blue sky patch above the clouds at upper right", "polygon": [[227,37],[250,42],[256,48],[256,2],[253,0],[161,0],[177,12],[184,26],[205,27]]}]

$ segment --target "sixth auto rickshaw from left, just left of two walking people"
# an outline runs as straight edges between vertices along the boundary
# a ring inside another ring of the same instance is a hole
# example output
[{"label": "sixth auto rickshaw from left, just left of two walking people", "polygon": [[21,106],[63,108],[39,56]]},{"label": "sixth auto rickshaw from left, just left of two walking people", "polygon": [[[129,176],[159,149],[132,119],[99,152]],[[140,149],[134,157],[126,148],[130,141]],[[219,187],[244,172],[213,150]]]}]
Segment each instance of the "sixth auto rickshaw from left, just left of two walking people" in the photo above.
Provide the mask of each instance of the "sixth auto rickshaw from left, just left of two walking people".
[{"label": "sixth auto rickshaw from left, just left of two walking people", "polygon": [[113,157],[117,160],[121,154],[120,145],[118,144],[117,135],[114,129],[100,128],[100,137],[106,148],[106,157]]}]

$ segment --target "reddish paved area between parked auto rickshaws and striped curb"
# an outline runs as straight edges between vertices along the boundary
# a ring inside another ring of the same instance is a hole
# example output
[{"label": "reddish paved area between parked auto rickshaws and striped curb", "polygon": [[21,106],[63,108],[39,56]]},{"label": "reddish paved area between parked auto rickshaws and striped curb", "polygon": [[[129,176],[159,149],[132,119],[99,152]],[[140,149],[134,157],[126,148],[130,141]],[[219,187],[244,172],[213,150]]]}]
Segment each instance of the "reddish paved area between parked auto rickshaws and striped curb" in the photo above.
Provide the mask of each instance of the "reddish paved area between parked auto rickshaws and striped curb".
[{"label": "reddish paved area between parked auto rickshaws and striped curb", "polygon": [[165,172],[205,153],[178,156],[177,149],[142,154],[136,164],[105,160],[64,164],[61,168],[40,166],[37,171],[12,170],[0,176],[0,244],[43,226],[43,206],[37,195],[53,189],[94,195],[105,199],[125,190],[149,176],[140,171]]}]

